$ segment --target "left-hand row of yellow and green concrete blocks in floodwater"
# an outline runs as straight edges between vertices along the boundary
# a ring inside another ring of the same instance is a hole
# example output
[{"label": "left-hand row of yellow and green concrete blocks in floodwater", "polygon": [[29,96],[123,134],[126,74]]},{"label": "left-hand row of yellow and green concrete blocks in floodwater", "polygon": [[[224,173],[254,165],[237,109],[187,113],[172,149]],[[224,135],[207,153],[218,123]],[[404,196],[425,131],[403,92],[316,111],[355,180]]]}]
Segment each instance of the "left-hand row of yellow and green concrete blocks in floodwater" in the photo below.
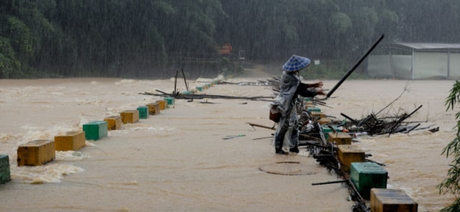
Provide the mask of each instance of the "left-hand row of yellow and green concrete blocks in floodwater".
[{"label": "left-hand row of yellow and green concrete blocks in floodwater", "polygon": [[[174,105],[174,98],[167,97],[155,103],[139,106],[136,110],[122,111],[119,116],[104,118],[83,125],[83,131],[67,132],[51,140],[35,140],[19,145],[17,148],[17,166],[40,166],[55,159],[55,151],[78,150],[85,146],[86,140],[99,140],[107,136],[108,130],[119,130],[121,124],[135,123],[146,119],[148,115],[159,114],[167,106]],[[0,155],[0,184],[11,180],[9,157]]]}]

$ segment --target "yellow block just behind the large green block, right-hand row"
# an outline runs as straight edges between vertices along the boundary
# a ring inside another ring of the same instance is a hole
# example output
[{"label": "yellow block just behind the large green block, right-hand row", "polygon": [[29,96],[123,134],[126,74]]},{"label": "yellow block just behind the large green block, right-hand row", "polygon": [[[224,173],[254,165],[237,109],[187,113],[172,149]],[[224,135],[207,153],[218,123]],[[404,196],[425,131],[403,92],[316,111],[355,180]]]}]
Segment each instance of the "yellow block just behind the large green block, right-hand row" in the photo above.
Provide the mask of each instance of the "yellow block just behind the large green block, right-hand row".
[{"label": "yellow block just behind the large green block, right-hand row", "polygon": [[351,163],[365,162],[365,152],[356,145],[338,145],[337,157],[343,172],[349,173]]}]

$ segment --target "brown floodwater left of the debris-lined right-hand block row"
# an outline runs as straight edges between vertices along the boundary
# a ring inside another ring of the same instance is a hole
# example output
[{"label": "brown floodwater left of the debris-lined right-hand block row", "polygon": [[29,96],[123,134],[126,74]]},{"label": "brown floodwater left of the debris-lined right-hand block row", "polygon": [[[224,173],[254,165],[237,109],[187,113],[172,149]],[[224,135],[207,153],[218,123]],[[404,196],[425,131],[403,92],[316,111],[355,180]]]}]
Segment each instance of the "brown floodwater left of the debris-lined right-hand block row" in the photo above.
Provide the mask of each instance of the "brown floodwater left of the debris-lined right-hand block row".
[{"label": "brown floodwater left of the debris-lined right-hand block row", "polygon": [[[341,185],[310,185],[337,180],[313,159],[275,155],[270,139],[252,140],[272,133],[245,124],[271,125],[267,102],[176,100],[174,108],[90,141],[95,146],[84,147],[81,154],[58,153],[46,166],[17,168],[18,144],[52,139],[87,121],[153,102],[153,97],[136,93],[169,91],[172,81],[44,79],[0,84],[5,97],[0,102],[0,150],[9,155],[12,169],[12,182],[0,185],[0,211],[348,212],[353,205]],[[217,85],[205,93],[271,92],[261,86]],[[221,139],[237,134],[245,137]],[[299,162],[308,175],[258,170],[286,161]]]}]

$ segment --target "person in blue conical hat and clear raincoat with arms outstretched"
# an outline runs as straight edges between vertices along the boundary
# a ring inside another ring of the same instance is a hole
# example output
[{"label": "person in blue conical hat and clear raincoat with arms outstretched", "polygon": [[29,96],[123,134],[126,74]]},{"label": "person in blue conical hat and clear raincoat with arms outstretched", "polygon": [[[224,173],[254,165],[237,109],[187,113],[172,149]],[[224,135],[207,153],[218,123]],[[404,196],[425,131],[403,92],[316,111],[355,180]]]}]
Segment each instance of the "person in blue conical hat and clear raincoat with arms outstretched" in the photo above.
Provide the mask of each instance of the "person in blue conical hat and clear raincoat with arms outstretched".
[{"label": "person in blue conical hat and clear raincoat with arms outstretched", "polygon": [[[310,64],[310,59],[292,55],[282,66],[283,75],[279,86],[279,94],[275,102],[277,111],[281,117],[274,134],[274,148],[276,154],[287,155],[282,150],[283,144],[289,147],[289,152],[298,153],[298,117],[295,103],[297,95],[314,97],[325,95],[322,91],[322,82],[304,84],[300,82],[298,72]],[[272,107],[273,108],[273,107]]]}]

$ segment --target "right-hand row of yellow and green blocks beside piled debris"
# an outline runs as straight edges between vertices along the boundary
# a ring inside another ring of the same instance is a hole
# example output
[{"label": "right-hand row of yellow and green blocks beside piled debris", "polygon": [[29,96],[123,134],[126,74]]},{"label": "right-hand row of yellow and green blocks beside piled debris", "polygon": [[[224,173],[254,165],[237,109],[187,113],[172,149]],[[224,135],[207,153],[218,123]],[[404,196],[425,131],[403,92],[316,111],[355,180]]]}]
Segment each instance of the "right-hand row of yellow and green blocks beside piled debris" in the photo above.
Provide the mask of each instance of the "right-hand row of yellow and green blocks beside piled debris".
[{"label": "right-hand row of yellow and green blocks beside piled debris", "polygon": [[[307,101],[305,107],[321,125],[331,122],[311,101]],[[362,198],[370,199],[371,212],[417,212],[417,203],[404,191],[386,189],[388,173],[380,165],[366,162],[365,151],[351,145],[351,136],[333,125],[323,126],[322,131],[327,141],[336,145],[338,149],[337,158],[341,171],[349,174],[351,182]]]}]

